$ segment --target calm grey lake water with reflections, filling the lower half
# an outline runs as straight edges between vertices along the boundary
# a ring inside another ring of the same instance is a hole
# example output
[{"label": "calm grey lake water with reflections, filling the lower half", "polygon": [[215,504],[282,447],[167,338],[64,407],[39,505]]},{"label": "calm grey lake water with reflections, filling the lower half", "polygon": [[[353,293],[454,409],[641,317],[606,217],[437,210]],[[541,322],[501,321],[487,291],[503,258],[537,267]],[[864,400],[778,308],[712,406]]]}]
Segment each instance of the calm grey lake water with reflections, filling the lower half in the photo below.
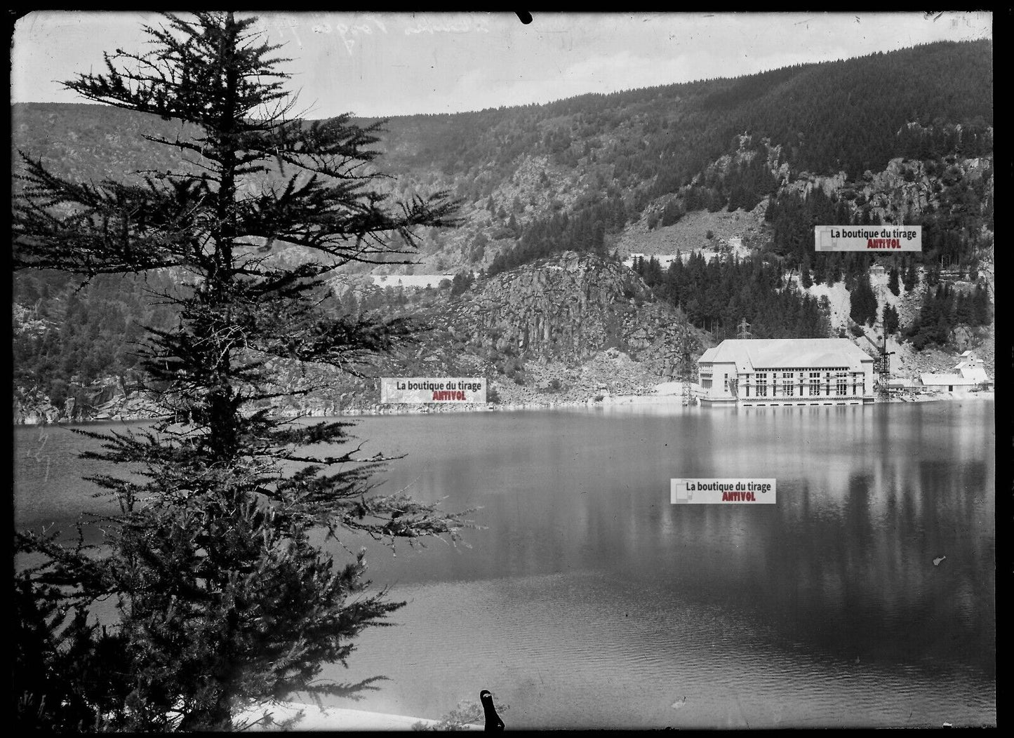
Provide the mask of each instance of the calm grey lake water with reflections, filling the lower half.
[{"label": "calm grey lake water with reflections, filling the lower half", "polygon": [[[364,419],[365,455],[407,454],[382,490],[486,527],[469,547],[370,546],[409,604],[324,673],[388,680],[334,704],[439,718],[488,688],[508,729],[995,725],[994,412]],[[110,504],[77,479],[92,444],[15,429],[19,525]],[[778,503],[671,505],[682,476],[773,477]]]}]

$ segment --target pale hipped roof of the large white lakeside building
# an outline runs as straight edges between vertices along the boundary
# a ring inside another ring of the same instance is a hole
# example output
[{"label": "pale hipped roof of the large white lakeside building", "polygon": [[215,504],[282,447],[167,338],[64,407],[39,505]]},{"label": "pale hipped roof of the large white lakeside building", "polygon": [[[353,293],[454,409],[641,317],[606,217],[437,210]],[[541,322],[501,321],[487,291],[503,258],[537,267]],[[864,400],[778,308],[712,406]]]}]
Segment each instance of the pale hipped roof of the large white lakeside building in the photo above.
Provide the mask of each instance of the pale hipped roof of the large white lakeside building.
[{"label": "pale hipped roof of the large white lakeside building", "polygon": [[782,367],[849,367],[860,371],[869,356],[848,339],[727,339],[708,349],[698,363],[734,363],[737,371]]}]

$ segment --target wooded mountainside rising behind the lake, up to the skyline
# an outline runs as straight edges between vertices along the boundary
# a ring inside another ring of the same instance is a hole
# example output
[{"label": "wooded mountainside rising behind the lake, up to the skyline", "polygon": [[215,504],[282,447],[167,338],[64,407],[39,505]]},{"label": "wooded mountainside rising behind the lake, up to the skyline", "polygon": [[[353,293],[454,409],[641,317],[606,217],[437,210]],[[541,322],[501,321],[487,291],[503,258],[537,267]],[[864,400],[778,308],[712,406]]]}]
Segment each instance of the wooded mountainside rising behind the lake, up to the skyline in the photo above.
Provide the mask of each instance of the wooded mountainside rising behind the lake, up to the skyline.
[{"label": "wooded mountainside rising behind the lake, up to the skyline", "polygon": [[[426,231],[415,266],[348,273],[456,273],[443,293],[450,299],[473,281],[486,290],[510,270],[566,251],[623,259],[681,249],[684,260],[695,255],[667,271],[649,259],[638,272],[651,299],[718,340],[742,319],[758,337],[826,335],[827,306],[793,290],[844,282],[862,302],[862,277],[880,264],[907,279],[923,275],[915,289],[929,290],[925,309],[895,328],[914,345],[943,345],[954,325],[991,320],[988,291],[973,287],[990,274],[993,253],[988,41],[544,105],[397,117],[384,129],[375,164],[393,175],[386,187],[403,197],[450,192],[460,225]],[[82,181],[191,168],[193,155],[151,141],[185,133],[99,105],[12,106],[15,166],[20,151]],[[244,184],[256,193],[273,180],[269,172]],[[732,211],[751,223],[751,257],[707,264],[701,249],[717,239],[687,235],[682,224],[689,213]],[[830,223],[920,224],[923,252],[814,254],[813,225]],[[302,257],[285,243],[254,245]],[[948,286],[954,279],[967,285]],[[948,284],[937,291],[941,280]],[[16,275],[15,380],[57,405],[103,377],[129,383],[129,347],[141,326],[173,319],[146,302],[141,286],[96,280],[78,291],[61,275]],[[863,322],[870,309],[860,308]]]}]

